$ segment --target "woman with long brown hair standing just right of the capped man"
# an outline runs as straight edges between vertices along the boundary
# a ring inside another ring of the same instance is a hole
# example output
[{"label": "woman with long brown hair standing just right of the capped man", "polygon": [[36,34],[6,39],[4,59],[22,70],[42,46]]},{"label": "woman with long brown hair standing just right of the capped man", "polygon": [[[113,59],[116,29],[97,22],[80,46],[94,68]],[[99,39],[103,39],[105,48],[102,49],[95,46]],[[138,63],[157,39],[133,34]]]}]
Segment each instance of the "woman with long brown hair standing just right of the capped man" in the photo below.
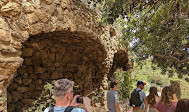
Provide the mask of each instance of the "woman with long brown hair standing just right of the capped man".
[{"label": "woman with long brown hair standing just right of the capped man", "polygon": [[159,101],[159,96],[157,93],[157,88],[156,87],[150,87],[150,94],[144,99],[145,103],[145,112],[147,112],[148,106],[149,106],[149,111],[148,112],[159,112],[155,104]]}]

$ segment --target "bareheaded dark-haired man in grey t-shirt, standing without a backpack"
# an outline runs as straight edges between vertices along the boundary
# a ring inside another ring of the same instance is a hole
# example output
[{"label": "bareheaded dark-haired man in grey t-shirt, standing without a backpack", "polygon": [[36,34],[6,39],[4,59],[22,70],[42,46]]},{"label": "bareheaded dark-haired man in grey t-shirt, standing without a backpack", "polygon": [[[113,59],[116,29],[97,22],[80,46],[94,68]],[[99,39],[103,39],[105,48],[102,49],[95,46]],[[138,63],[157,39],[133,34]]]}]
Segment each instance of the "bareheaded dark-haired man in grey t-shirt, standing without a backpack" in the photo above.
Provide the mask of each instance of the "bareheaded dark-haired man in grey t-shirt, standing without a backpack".
[{"label": "bareheaded dark-haired man in grey t-shirt, standing without a backpack", "polygon": [[119,108],[119,96],[116,90],[118,89],[118,83],[112,81],[110,83],[110,90],[107,93],[107,106],[108,112],[120,112]]}]

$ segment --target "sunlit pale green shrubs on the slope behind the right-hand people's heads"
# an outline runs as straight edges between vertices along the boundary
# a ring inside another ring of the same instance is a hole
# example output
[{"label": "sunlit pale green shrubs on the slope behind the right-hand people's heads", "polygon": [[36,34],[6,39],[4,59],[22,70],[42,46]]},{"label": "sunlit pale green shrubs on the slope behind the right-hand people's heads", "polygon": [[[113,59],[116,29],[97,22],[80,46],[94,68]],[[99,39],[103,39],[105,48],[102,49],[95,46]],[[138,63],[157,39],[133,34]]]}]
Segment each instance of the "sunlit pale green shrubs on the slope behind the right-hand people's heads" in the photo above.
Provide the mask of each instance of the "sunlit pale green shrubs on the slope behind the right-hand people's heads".
[{"label": "sunlit pale green shrubs on the slope behind the right-hand people's heads", "polygon": [[184,78],[178,79],[178,74],[173,72],[170,74],[166,72],[165,75],[162,75],[162,69],[156,64],[151,62],[151,59],[140,61],[140,64],[134,64],[134,84],[136,87],[137,81],[142,80],[147,83],[147,89],[151,85],[155,86],[168,86],[170,85],[171,80],[179,80],[186,82]]}]

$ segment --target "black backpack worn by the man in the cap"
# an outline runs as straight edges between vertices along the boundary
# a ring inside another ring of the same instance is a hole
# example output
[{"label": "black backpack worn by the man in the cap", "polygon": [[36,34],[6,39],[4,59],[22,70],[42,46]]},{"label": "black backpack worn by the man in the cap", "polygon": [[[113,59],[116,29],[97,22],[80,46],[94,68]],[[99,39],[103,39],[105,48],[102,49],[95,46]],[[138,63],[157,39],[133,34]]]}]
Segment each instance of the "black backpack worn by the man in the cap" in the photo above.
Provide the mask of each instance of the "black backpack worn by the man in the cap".
[{"label": "black backpack worn by the man in the cap", "polygon": [[130,103],[130,106],[132,107],[140,107],[140,105],[142,104],[141,100],[140,100],[140,92],[141,90],[134,90],[132,93],[131,93],[131,98],[129,99],[129,103]]}]

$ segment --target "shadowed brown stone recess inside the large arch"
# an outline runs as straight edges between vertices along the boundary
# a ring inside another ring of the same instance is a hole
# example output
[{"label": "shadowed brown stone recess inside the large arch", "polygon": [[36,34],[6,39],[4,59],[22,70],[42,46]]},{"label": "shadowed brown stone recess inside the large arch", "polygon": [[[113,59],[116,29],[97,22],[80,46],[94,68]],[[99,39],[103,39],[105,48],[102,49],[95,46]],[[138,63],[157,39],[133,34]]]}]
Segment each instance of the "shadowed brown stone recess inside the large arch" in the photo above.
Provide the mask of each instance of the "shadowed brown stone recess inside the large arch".
[{"label": "shadowed brown stone recess inside the large arch", "polygon": [[20,112],[32,106],[46,82],[73,80],[86,95],[102,84],[106,56],[99,40],[71,32],[32,35],[23,43],[23,65],[7,89],[8,111]]}]

